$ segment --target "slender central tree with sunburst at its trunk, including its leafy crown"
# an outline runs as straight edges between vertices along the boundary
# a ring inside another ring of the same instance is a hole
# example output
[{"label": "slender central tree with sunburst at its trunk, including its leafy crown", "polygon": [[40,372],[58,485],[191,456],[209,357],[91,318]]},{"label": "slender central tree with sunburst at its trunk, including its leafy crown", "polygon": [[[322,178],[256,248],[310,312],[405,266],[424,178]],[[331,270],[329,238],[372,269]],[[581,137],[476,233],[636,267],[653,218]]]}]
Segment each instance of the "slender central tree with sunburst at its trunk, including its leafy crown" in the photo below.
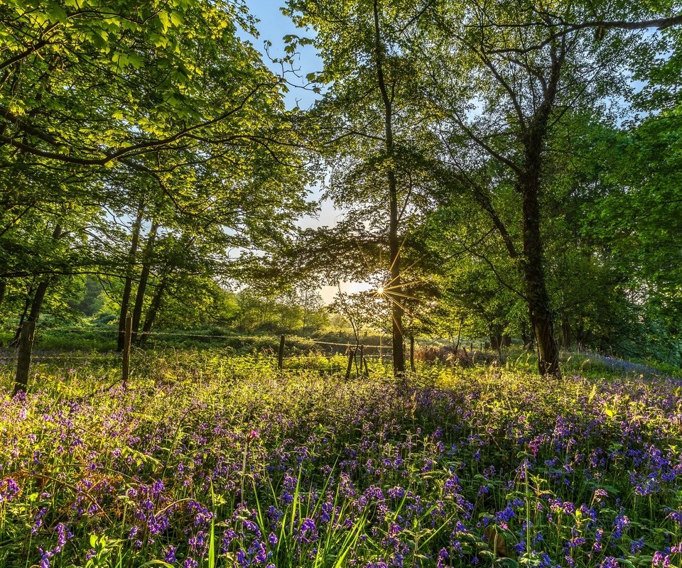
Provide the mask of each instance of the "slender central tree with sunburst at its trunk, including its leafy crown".
[{"label": "slender central tree with sunburst at its trunk, including its leafy crown", "polygon": [[[323,152],[335,164],[328,196],[350,207],[349,219],[377,229],[388,250],[384,290],[391,300],[394,373],[400,374],[405,371],[402,256],[423,162],[414,140],[423,132],[414,128],[420,118],[418,69],[401,52],[401,34],[414,29],[421,14],[411,1],[290,0],[287,5],[298,26],[315,29],[313,43],[325,63],[310,80],[327,85],[312,116],[321,123]],[[367,271],[377,264],[374,260]]]}]

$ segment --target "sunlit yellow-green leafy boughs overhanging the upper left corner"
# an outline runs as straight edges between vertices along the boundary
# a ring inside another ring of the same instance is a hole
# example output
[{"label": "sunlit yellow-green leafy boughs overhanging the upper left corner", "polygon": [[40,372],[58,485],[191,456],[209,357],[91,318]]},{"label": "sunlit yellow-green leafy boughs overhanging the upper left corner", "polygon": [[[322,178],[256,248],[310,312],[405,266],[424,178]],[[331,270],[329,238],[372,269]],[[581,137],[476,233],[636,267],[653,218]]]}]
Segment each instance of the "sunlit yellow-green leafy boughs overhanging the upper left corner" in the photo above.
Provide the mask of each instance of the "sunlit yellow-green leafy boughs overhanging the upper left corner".
[{"label": "sunlit yellow-green leafy boughs overhanging the upper left corner", "polygon": [[[0,9],[0,147],[99,166],[215,141],[278,80],[235,22],[239,2],[11,1]],[[149,85],[155,88],[149,89]],[[224,140],[225,132],[220,138]]]}]

